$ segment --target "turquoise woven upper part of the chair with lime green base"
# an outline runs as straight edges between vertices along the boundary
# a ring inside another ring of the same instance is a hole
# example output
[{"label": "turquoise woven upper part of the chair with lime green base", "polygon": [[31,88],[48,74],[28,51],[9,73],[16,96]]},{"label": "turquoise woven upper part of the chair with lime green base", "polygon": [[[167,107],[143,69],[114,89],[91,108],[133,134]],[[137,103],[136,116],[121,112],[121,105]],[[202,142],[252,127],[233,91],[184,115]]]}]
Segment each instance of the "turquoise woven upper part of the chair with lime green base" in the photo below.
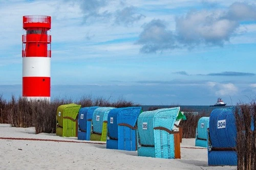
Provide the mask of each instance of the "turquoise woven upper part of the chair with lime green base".
[{"label": "turquoise woven upper part of the chair with lime green base", "polygon": [[103,121],[108,120],[108,114],[114,107],[99,107],[93,112],[93,132],[102,133]]}]

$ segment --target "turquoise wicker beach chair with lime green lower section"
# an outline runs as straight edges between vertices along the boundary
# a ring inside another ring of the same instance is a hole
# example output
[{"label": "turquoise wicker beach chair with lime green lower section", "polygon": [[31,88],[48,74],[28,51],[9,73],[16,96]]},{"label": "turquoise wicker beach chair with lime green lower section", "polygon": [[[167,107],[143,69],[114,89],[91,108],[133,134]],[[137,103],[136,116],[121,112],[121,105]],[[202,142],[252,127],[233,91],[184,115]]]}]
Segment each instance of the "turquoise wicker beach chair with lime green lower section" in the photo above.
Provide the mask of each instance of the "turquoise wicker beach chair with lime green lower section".
[{"label": "turquoise wicker beach chair with lime green lower section", "polygon": [[92,117],[92,134],[90,140],[106,141],[108,114],[114,107],[99,107],[94,110]]}]

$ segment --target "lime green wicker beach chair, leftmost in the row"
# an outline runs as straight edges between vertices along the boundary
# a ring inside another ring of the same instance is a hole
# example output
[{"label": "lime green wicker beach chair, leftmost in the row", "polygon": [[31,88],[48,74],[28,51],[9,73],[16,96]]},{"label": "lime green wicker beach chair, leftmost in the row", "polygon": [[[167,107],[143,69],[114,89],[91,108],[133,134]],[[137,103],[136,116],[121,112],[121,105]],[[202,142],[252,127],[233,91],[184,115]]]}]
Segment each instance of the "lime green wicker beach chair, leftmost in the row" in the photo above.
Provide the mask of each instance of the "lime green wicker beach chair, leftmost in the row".
[{"label": "lime green wicker beach chair, leftmost in the row", "polygon": [[56,135],[77,136],[77,115],[81,105],[74,103],[60,105],[56,115]]}]

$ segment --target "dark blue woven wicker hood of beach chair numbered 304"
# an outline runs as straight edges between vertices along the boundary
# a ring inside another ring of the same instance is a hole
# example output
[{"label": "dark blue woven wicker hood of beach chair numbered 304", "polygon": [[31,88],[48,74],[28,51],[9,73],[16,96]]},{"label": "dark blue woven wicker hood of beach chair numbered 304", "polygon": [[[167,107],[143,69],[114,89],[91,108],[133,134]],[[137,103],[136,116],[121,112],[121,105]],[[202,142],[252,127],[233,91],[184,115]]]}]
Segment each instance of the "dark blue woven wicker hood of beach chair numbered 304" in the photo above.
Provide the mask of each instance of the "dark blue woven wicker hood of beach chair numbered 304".
[{"label": "dark blue woven wicker hood of beach chair numbered 304", "polygon": [[212,110],[209,118],[209,133],[212,147],[236,147],[237,128],[234,109],[234,107],[229,107]]}]

